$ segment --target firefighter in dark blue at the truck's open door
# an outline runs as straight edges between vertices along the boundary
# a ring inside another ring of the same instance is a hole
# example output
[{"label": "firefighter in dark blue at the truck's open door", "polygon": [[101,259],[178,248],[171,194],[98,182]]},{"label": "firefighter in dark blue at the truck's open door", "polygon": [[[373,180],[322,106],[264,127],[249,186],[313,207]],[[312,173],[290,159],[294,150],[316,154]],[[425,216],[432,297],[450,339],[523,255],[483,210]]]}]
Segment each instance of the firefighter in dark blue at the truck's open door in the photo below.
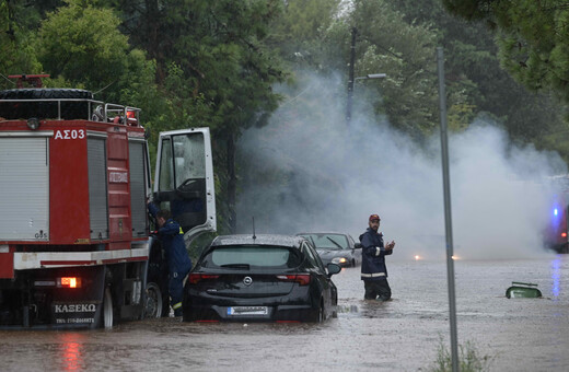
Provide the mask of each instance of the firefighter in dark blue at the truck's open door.
[{"label": "firefighter in dark blue at the truck's open door", "polygon": [[158,236],[166,252],[169,292],[172,300],[172,309],[174,309],[174,316],[182,316],[184,279],[191,269],[191,259],[189,259],[186,244],[184,243],[184,232],[179,224],[172,219],[169,210],[162,209],[159,211],[152,202],[148,205],[148,209],[156,220],[159,226]]}]

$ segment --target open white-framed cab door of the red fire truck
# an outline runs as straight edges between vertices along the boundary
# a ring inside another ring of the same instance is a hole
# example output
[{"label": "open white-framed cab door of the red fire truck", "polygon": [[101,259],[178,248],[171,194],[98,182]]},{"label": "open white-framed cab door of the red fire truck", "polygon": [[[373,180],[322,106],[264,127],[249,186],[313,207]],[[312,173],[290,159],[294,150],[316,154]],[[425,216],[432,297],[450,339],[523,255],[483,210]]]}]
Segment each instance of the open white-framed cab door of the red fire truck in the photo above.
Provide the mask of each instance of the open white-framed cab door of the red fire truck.
[{"label": "open white-framed cab door of the red fire truck", "polygon": [[160,133],[154,204],[167,209],[184,230],[184,240],[216,231],[216,195],[209,128]]}]

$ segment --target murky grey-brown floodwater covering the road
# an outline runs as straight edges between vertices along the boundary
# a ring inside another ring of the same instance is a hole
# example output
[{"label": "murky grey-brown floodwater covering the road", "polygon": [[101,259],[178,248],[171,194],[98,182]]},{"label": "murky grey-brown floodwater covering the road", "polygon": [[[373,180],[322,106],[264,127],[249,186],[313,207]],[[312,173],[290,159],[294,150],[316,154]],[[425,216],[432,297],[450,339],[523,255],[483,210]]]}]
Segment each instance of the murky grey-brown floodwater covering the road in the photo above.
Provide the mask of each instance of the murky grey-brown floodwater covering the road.
[{"label": "murky grey-brown floodwater covering the road", "polygon": [[[388,259],[388,257],[387,257]],[[2,371],[427,371],[450,348],[444,261],[388,261],[393,301],[363,301],[359,268],[334,277],[323,324],[148,319],[112,330],[0,332]],[[569,256],[455,261],[458,344],[490,371],[569,370]],[[507,299],[512,281],[542,299]]]}]

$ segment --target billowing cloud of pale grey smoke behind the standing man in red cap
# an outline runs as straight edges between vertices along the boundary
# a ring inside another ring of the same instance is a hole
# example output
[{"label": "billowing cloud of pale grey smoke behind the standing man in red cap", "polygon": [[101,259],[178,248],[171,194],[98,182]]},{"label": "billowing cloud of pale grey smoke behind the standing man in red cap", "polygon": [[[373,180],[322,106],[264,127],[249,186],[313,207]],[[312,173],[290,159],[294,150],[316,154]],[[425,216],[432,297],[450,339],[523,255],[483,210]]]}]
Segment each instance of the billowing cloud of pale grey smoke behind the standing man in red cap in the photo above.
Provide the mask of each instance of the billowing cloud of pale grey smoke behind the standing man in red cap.
[{"label": "billowing cloud of pale grey smoke behind the standing man in red cap", "polygon": [[[440,131],[426,148],[355,104],[348,126],[341,80],[312,74],[286,96],[263,128],[239,142],[243,166],[237,232],[346,232],[356,241],[379,213],[396,242],[393,258],[446,254]],[[363,86],[360,95],[364,96]],[[356,92],[358,93],[358,92]],[[464,259],[550,254],[542,231],[558,193],[544,183],[566,172],[557,153],[518,147],[492,123],[449,133],[453,253]]]}]

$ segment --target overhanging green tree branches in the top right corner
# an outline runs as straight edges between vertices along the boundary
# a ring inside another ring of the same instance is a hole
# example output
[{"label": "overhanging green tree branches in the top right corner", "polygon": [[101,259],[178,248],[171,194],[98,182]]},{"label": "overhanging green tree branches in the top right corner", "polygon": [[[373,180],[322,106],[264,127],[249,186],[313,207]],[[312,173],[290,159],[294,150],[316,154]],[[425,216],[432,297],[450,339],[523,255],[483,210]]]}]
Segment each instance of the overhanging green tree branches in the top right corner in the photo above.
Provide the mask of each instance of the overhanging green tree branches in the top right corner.
[{"label": "overhanging green tree branches in the top right corner", "polygon": [[443,0],[466,20],[484,21],[497,33],[502,66],[533,91],[555,90],[569,103],[569,7],[565,0]]}]

